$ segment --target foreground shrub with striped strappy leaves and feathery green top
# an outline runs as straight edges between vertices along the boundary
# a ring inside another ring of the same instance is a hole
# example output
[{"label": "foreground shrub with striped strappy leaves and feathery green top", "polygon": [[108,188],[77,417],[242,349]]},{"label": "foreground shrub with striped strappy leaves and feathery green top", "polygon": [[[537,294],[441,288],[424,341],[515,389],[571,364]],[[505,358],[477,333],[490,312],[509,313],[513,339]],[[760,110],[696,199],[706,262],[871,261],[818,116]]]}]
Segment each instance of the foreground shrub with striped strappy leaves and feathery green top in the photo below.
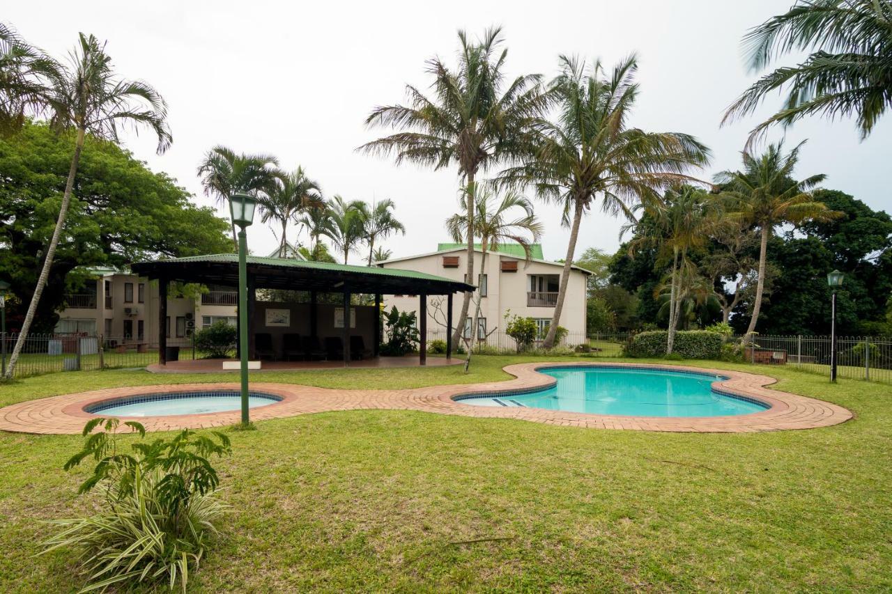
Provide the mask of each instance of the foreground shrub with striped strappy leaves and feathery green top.
[{"label": "foreground shrub with striped strappy leaves and feathery green top", "polygon": [[[103,431],[93,430],[103,425]],[[80,567],[90,576],[89,590],[120,584],[179,582],[186,591],[190,571],[197,567],[217,533],[214,522],[226,506],[216,497],[217,471],[208,458],[231,452],[229,440],[217,440],[185,430],[170,439],[139,441],[127,453],[118,443],[118,419],[97,418],[84,427],[82,450],[65,470],[87,458],[97,462],[79,493],[101,493],[103,512],[89,517],[57,520],[62,532],[46,540],[44,553],[62,547],[81,549]],[[145,428],[128,421],[145,438]]]}]

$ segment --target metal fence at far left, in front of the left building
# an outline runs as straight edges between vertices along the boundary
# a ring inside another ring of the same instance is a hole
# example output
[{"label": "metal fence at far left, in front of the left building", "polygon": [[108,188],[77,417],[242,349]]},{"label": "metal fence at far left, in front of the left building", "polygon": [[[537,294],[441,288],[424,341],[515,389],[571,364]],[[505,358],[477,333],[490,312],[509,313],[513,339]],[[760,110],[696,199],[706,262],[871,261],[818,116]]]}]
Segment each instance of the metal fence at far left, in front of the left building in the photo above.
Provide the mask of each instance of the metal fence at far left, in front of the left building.
[{"label": "metal fence at far left, in front of the left building", "polygon": [[[0,377],[6,366],[18,334],[0,336]],[[191,337],[169,338],[168,347],[178,348],[180,359],[195,359]],[[54,373],[57,371],[87,371],[115,367],[145,367],[158,362],[157,342],[139,337],[103,336],[101,334],[29,334],[16,363],[15,377]]]}]

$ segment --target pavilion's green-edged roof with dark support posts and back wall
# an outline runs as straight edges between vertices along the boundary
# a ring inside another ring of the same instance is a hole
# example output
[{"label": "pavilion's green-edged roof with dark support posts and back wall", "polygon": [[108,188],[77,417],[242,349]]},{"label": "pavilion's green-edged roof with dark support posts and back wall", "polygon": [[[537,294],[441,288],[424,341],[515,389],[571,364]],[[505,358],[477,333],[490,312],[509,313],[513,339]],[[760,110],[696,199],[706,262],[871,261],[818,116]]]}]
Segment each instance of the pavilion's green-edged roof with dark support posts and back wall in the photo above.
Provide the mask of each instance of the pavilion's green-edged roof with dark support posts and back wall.
[{"label": "pavilion's green-edged roof with dark support posts and back wall", "polygon": [[[167,318],[169,283],[176,281],[234,288],[238,286],[238,255],[235,253],[136,262],[130,268],[139,276],[147,276],[158,281],[158,319],[160,320],[158,325],[158,362],[161,366],[167,363],[167,331],[164,320]],[[248,355],[250,359],[257,358],[256,336],[259,326],[268,326],[264,329],[280,332],[283,329],[301,328],[314,340],[318,340],[320,326],[325,326],[328,334],[339,331],[345,365],[349,364],[351,360],[351,331],[359,332],[360,335],[368,333],[373,356],[377,357],[378,343],[381,338],[381,296],[383,294],[401,294],[418,296],[417,323],[421,342],[420,364],[425,365],[427,297],[429,295],[445,295],[447,297],[447,326],[452,328],[453,293],[475,290],[473,285],[467,285],[467,283],[412,270],[369,268],[290,258],[248,256],[247,272]],[[296,309],[296,306],[292,309],[267,308],[264,312],[260,312],[256,294],[258,289],[310,293],[309,308]],[[326,309],[327,313],[334,313],[330,320],[327,318],[320,320],[319,318],[320,309],[323,309],[318,303],[319,293],[337,293],[341,296],[338,303],[340,307]],[[363,315],[358,316],[356,309],[359,308],[351,306],[351,294],[353,293],[374,294],[375,307],[367,307],[361,312]],[[260,318],[260,316],[263,317]],[[292,321],[292,318],[298,319]],[[331,321],[331,324],[328,324],[328,321]],[[323,324],[320,325],[320,322]],[[451,332],[447,332],[446,335],[446,356],[449,359],[452,354]]]}]

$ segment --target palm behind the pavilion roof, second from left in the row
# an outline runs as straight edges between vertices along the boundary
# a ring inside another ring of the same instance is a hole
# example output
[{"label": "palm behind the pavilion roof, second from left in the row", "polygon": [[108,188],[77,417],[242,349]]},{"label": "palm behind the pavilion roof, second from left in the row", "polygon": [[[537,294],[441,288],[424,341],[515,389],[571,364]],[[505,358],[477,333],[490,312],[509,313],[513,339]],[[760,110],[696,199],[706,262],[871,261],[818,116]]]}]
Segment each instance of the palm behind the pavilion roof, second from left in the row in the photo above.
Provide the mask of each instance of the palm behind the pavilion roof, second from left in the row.
[{"label": "palm behind the pavilion roof, second from left in the row", "polygon": [[325,205],[318,183],[307,177],[303,168],[291,173],[277,171],[266,195],[260,198],[261,220],[266,223],[276,220],[282,225],[279,236],[279,258],[285,258],[288,249],[288,224],[297,222],[302,210]]}]

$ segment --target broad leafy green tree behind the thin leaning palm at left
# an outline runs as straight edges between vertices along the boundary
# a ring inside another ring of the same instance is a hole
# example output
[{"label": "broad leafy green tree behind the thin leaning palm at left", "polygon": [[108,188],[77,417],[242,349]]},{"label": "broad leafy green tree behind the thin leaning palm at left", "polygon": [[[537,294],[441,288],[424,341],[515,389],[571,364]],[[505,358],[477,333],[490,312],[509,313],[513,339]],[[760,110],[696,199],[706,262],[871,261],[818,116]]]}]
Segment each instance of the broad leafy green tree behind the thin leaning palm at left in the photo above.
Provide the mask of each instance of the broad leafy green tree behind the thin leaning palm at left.
[{"label": "broad leafy green tree behind the thin leaning palm at left", "polygon": [[[12,285],[6,302],[20,328],[41,272],[43,253],[59,213],[71,157],[71,136],[25,122],[0,137],[0,278]],[[67,287],[85,280],[72,271],[126,268],[130,262],[218,253],[231,245],[227,222],[198,208],[191,194],[117,144],[87,134],[78,163],[65,233],[58,243],[33,329],[50,332]]]}]

